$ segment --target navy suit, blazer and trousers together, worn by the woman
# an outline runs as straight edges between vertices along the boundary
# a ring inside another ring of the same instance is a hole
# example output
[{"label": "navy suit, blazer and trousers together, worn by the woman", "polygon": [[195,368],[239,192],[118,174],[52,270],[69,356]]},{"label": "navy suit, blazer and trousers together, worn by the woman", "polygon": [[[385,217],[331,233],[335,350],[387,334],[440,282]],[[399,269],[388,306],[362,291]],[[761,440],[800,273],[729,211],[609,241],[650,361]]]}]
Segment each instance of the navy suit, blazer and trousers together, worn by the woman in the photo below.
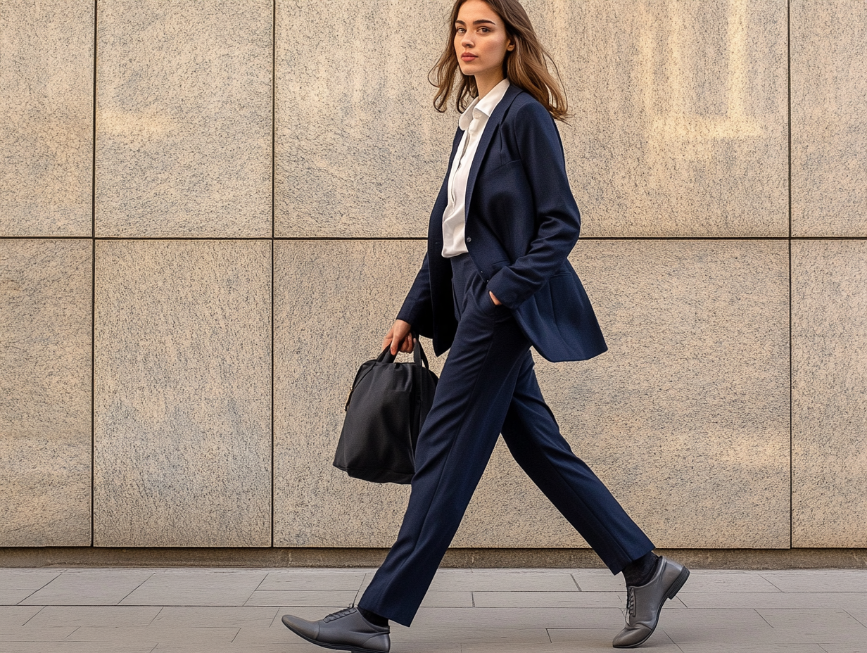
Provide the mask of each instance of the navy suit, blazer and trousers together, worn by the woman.
[{"label": "navy suit, blazer and trousers together, worn by the woman", "polygon": [[[460,138],[454,139],[451,168]],[[427,255],[398,317],[450,349],[421,428],[398,539],[359,605],[411,624],[500,433],[518,465],[614,573],[653,549],[572,453],[544,402],[530,347],[550,361],[605,351],[567,257],[580,217],[551,115],[512,85],[489,118],[466,186],[467,254],[441,256],[447,183]],[[492,302],[493,292],[502,305]]]}]

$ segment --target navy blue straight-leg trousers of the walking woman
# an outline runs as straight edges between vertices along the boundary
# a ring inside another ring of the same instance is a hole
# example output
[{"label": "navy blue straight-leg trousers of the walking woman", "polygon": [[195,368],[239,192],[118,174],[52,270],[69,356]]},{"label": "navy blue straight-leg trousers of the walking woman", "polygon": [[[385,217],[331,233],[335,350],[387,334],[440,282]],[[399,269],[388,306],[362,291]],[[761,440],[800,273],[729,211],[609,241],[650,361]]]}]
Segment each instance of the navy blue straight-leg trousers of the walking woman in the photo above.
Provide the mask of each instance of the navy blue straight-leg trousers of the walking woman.
[{"label": "navy blue straight-leg trousers of the walking woman", "polygon": [[359,605],[410,625],[500,433],[531,480],[612,573],[654,545],[560,434],[536,381],[530,342],[493,304],[468,254],[452,259],[459,317],[433,407],[419,434],[397,541]]}]

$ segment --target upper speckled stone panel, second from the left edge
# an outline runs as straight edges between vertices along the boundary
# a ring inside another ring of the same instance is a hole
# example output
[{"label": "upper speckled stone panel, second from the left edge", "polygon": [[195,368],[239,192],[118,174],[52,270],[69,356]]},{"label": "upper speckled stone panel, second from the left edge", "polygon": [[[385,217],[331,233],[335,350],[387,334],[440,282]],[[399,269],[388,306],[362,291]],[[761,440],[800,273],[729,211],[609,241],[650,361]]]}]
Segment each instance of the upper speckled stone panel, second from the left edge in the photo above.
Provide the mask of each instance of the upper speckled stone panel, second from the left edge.
[{"label": "upper speckled stone panel, second from the left edge", "polygon": [[271,0],[101,0],[98,236],[271,236]]}]

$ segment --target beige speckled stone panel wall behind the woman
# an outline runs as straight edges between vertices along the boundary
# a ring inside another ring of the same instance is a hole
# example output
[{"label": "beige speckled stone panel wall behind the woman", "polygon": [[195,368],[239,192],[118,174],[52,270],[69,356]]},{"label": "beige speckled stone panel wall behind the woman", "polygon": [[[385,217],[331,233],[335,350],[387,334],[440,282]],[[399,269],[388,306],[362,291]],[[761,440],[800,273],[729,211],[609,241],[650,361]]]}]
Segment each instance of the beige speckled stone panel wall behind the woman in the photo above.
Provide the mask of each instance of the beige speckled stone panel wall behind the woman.
[{"label": "beige speckled stone panel wall behind the woman", "polygon": [[[0,546],[392,543],[330,460],[450,4],[4,0]],[[538,359],[565,436],[661,547],[867,546],[867,3],[525,5],[610,345]],[[498,446],[454,545],[583,541]]]}]

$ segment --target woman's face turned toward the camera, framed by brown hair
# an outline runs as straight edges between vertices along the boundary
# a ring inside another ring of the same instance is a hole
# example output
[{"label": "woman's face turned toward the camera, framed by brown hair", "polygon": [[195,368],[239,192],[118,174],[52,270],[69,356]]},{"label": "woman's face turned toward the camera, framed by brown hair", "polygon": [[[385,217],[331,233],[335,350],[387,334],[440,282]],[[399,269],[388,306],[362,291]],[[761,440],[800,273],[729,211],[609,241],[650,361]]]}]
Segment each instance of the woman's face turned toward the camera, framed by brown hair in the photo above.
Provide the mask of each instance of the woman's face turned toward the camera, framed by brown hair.
[{"label": "woman's face turned toward the camera, framed by brown hair", "polygon": [[484,0],[467,0],[460,5],[454,23],[454,52],[460,72],[480,78],[503,78],[505,53],[515,48],[505,33],[505,24]]}]

